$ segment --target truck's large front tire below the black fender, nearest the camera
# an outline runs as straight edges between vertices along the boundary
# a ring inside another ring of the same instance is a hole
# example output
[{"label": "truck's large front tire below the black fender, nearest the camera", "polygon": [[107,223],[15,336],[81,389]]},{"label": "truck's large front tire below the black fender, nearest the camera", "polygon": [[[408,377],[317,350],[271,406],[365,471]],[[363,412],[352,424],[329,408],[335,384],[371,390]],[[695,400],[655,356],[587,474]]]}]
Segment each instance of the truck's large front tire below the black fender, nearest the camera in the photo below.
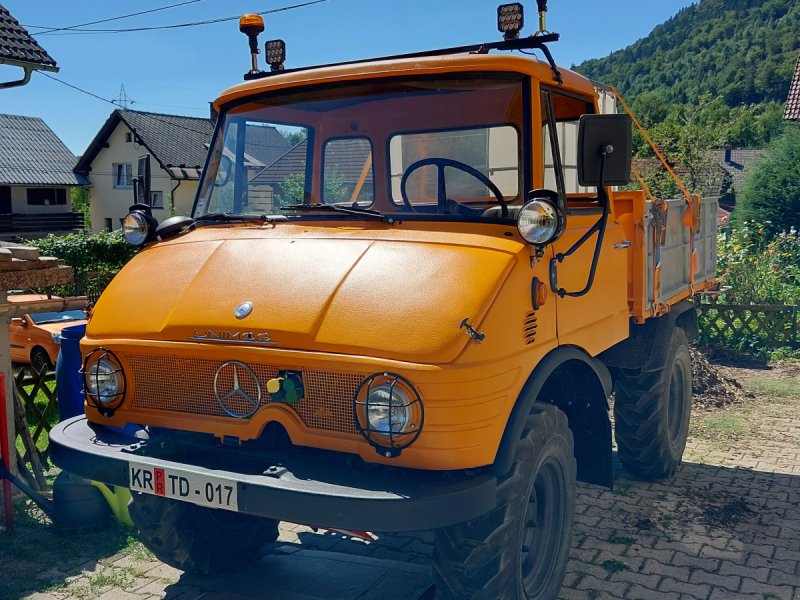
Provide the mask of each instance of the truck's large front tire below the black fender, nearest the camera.
[{"label": "truck's large front tire below the black fender, nearest the camera", "polygon": [[557,598],[569,558],[576,464],[566,415],[534,404],[492,512],[436,532],[437,599]]}]

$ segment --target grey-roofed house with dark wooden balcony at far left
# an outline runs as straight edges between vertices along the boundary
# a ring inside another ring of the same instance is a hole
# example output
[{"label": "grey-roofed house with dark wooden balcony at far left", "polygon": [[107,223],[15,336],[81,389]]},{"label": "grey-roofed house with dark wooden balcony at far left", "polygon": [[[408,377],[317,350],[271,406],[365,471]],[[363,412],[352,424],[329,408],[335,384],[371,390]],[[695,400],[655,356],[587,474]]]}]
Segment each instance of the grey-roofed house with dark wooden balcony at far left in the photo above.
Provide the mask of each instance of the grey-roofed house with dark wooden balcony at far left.
[{"label": "grey-roofed house with dark wooden balcony at far left", "polygon": [[71,190],[88,182],[75,156],[38,117],[0,114],[0,239],[38,238],[83,228]]}]

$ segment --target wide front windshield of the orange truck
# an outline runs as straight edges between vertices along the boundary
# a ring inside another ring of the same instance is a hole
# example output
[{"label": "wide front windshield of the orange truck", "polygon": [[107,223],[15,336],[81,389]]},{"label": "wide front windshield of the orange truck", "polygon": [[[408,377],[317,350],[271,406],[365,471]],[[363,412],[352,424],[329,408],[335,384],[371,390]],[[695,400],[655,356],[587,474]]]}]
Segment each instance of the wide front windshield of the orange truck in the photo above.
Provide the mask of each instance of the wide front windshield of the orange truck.
[{"label": "wide front windshield of the orange truck", "polygon": [[[371,80],[231,109],[195,217],[504,219],[522,201],[523,78]],[[347,207],[348,211],[314,209]]]}]

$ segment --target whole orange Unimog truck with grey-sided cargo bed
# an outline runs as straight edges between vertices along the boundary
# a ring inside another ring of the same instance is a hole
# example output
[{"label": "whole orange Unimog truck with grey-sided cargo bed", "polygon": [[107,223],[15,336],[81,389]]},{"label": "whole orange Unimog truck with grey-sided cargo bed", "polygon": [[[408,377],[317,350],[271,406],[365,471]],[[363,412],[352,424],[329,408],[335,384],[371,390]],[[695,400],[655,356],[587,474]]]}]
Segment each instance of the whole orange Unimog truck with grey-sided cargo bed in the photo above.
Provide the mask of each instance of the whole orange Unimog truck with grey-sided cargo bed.
[{"label": "whole orange Unimog truck with grey-sided cargo bed", "polygon": [[437,597],[555,598],[576,479],[612,484],[612,392],[622,464],[680,464],[715,203],[617,189],[630,118],[521,11],[500,42],[315,68],[275,40],[268,72],[243,18],[193,217],[132,206],[86,416],[51,434],[161,560],[245,564],[280,520],[434,529]]}]

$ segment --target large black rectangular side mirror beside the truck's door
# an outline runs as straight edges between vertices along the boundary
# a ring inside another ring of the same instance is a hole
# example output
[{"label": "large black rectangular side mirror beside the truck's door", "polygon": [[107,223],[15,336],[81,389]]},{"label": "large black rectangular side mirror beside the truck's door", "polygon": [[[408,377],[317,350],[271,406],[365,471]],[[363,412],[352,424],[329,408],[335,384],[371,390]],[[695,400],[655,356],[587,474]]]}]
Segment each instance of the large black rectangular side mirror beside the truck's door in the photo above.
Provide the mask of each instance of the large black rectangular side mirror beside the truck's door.
[{"label": "large black rectangular side mirror beside the truck's door", "polygon": [[578,183],[584,187],[599,186],[601,181],[604,186],[627,184],[632,151],[628,115],[583,115],[578,125]]}]

